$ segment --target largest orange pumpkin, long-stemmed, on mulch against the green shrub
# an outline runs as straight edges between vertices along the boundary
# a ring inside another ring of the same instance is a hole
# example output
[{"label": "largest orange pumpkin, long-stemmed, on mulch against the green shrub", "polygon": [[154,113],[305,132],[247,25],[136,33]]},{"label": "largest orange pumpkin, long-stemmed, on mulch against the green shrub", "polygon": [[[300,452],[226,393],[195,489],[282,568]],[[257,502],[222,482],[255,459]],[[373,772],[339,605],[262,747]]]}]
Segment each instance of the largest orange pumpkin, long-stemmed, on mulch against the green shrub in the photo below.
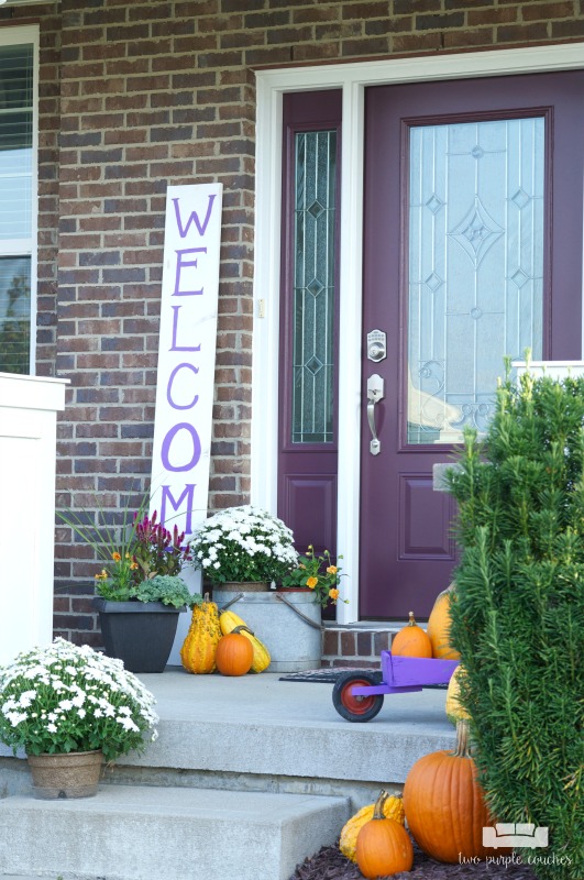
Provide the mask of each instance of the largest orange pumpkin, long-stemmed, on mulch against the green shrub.
[{"label": "largest orange pumpkin, long-stemmed, on mulch against the green shrub", "polygon": [[470,754],[467,722],[456,725],[454,751],[433,751],[416,761],[404,785],[404,809],[416,842],[438,861],[484,859],[493,851],[483,846],[483,827],[492,822]]}]

